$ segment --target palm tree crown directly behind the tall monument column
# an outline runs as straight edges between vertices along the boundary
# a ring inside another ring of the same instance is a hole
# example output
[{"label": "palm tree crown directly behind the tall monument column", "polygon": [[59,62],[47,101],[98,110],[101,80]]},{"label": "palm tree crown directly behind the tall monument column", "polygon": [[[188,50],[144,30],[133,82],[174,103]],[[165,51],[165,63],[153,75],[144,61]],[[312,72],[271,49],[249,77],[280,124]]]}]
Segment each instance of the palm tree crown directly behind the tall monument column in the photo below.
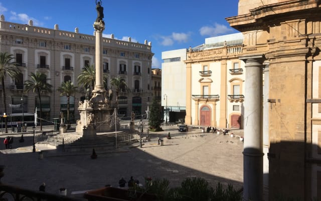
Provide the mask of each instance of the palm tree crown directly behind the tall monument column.
[{"label": "palm tree crown directly behind the tall monument column", "polygon": [[[104,73],[103,83],[107,85],[108,75]],[[78,86],[83,86],[86,90],[93,90],[96,83],[96,69],[94,65],[86,65],[77,77]]]}]

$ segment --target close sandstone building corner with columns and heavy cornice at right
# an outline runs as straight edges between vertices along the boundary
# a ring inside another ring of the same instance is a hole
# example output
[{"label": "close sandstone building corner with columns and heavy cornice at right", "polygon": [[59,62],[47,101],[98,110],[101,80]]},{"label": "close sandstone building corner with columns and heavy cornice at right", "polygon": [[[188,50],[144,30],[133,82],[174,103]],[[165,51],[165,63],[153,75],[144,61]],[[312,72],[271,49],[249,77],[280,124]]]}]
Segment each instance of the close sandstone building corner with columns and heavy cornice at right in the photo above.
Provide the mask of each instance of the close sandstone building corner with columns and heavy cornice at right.
[{"label": "close sandstone building corner with columns and heavy cornice at right", "polygon": [[244,36],[244,200],[320,200],[321,2],[239,0],[227,21]]}]

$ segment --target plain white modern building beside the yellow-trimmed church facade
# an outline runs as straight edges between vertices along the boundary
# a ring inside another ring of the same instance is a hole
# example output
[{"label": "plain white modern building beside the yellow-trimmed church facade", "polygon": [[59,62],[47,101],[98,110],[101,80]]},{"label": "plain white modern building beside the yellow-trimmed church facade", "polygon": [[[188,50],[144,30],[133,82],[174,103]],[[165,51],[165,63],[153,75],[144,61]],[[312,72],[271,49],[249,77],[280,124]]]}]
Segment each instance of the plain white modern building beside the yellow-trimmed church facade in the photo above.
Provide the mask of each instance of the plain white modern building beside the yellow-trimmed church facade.
[{"label": "plain white modern building beside the yellow-trimmed church facade", "polygon": [[186,49],[162,52],[162,107],[165,123],[185,121],[186,53]]}]

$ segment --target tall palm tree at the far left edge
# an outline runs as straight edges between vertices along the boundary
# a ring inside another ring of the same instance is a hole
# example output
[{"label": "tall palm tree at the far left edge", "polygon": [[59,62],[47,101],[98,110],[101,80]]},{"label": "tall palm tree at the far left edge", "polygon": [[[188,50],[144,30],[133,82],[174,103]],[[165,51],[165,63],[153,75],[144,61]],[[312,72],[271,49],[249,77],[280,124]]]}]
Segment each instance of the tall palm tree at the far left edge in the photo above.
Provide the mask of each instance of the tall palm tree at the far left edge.
[{"label": "tall palm tree at the far left edge", "polygon": [[[7,114],[7,102],[6,102],[6,88],[5,88],[5,79],[6,76],[13,79],[18,79],[19,74],[21,73],[20,69],[16,66],[16,62],[12,62],[14,56],[7,52],[0,52],[0,79],[2,83],[2,91],[4,96],[4,104],[5,104],[5,113]],[[8,133],[8,120],[5,118],[5,128],[6,133]]]}]

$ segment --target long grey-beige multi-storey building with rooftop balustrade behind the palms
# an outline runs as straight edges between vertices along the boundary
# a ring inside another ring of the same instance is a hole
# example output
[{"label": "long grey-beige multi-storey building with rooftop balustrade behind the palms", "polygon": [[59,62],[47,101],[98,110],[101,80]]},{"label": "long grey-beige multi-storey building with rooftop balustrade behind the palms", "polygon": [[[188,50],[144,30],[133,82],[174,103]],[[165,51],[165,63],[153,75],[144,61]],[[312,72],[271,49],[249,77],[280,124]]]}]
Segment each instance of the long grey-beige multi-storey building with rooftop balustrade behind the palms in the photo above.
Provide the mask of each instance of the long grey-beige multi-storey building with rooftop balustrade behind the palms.
[{"label": "long grey-beige multi-storey building with rooftop balustrade behind the palms", "polygon": [[[35,27],[33,22],[28,25],[5,21],[5,16],[0,17],[0,51],[14,55],[16,62],[21,69],[21,79],[13,80],[6,78],[8,113],[39,113],[39,101],[35,93],[23,93],[24,81],[33,72],[42,72],[53,85],[52,92],[42,91],[43,118],[49,122],[53,118],[59,118],[60,112],[66,112],[66,97],[60,97],[57,88],[62,82],[71,80],[78,85],[77,77],[85,65],[95,64],[95,37],[79,33],[78,28],[74,32],[59,30],[55,25],[54,29]],[[114,88],[110,80],[120,77],[127,83],[127,89],[123,89],[119,97],[119,114],[130,116],[133,111],[136,115],[144,113],[147,105],[151,102],[151,42],[144,41],[144,44],[128,41],[121,41],[111,38],[103,38],[102,63],[103,72],[107,74],[107,91]],[[77,111],[79,100],[85,98],[85,89],[79,88],[71,97],[71,119],[79,119]],[[1,90],[1,89],[0,89]],[[115,101],[113,92],[112,101]],[[23,97],[23,98],[22,98]],[[22,104],[23,102],[23,104]],[[11,110],[11,105],[23,105]],[[4,106],[0,105],[1,114],[4,113]],[[7,114],[10,115],[10,114]],[[10,122],[10,120],[9,120]]]}]

